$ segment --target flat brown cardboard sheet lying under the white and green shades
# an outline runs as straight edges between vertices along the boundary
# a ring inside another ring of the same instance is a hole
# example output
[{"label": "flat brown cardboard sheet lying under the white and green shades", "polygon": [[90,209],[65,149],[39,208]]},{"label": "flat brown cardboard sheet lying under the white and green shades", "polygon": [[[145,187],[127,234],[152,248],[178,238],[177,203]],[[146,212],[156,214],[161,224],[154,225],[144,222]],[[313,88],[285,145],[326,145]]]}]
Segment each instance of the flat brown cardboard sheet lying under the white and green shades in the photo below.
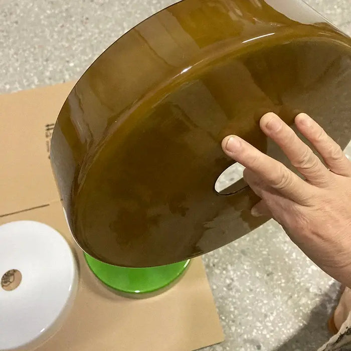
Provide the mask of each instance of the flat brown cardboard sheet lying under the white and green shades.
[{"label": "flat brown cardboard sheet lying under the white and green shades", "polygon": [[223,341],[201,258],[169,290],[141,300],[116,295],[87,267],[66,224],[49,160],[52,127],[72,86],[0,96],[0,224],[35,220],[52,226],[79,264],[72,311],[39,350],[182,351]]}]

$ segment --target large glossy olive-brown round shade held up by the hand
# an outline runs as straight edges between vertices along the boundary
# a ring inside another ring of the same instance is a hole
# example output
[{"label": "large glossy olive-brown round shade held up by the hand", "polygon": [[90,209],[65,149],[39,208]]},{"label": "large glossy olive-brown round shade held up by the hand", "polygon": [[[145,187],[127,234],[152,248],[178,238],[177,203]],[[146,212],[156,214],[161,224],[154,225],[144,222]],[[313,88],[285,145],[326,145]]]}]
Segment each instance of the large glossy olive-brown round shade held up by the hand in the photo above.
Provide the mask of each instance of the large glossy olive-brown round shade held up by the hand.
[{"label": "large glossy olive-brown round shade held up by the hand", "polygon": [[306,112],[341,147],[351,136],[351,39],[303,2],[184,0],[130,30],[78,81],[52,136],[78,244],[106,263],[149,267],[257,228],[254,193],[214,185],[233,163],[221,149],[228,134],[290,167],[260,131],[268,111],[290,125]]}]

